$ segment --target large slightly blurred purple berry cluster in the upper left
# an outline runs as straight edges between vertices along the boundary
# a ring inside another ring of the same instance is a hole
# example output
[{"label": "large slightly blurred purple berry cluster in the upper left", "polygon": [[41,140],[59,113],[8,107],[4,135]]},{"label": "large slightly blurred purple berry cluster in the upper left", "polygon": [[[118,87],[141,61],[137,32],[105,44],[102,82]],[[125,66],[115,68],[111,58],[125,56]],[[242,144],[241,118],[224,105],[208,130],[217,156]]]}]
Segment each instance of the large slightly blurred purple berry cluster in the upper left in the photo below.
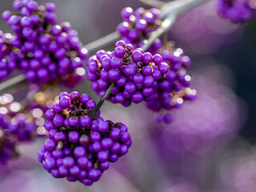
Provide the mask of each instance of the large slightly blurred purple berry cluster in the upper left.
[{"label": "large slightly blurred purple berry cluster in the upper left", "polygon": [[18,69],[29,82],[50,82],[83,66],[87,50],[69,22],[56,24],[54,3],[16,0],[14,10],[16,14],[4,11],[2,18],[14,31],[11,45],[18,49]]}]

